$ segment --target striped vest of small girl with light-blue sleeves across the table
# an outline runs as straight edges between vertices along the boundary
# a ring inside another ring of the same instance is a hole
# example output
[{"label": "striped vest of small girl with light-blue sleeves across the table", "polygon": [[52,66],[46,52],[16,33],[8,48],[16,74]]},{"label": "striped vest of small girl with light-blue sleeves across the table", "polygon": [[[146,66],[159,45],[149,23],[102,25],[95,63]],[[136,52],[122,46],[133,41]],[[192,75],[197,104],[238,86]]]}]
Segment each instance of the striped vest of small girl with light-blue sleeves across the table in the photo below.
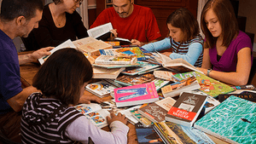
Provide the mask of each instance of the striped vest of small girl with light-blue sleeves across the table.
[{"label": "striped vest of small girl with light-blue sleeves across the table", "polygon": [[[189,51],[189,45],[192,43],[201,43],[203,45],[203,39],[201,35],[198,35],[194,37],[193,39],[190,39],[189,41],[186,41],[184,43],[178,43],[174,41],[172,38],[170,38],[171,44],[172,44],[172,52],[177,53],[179,55],[186,55]],[[203,53],[199,56],[199,58],[195,61],[195,67],[201,67],[203,58]]]}]

